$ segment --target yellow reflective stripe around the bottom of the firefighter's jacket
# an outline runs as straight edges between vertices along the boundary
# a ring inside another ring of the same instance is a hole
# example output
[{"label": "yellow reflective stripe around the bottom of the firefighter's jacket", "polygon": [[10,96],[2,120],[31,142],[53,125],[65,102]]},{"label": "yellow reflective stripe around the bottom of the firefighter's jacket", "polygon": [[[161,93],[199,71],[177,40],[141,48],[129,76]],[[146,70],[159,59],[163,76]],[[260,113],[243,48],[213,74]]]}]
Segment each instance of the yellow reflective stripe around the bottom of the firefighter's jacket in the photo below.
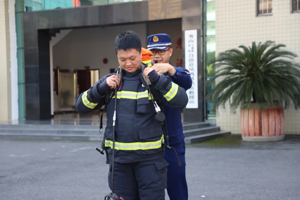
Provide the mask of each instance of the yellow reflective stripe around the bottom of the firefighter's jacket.
[{"label": "yellow reflective stripe around the bottom of the firefighter's jacket", "polygon": [[[164,135],[161,136],[161,139],[155,142],[115,142],[116,150],[149,150],[149,149],[158,149],[161,147],[162,142],[164,141]],[[105,146],[113,148],[113,141],[105,140]]]}]

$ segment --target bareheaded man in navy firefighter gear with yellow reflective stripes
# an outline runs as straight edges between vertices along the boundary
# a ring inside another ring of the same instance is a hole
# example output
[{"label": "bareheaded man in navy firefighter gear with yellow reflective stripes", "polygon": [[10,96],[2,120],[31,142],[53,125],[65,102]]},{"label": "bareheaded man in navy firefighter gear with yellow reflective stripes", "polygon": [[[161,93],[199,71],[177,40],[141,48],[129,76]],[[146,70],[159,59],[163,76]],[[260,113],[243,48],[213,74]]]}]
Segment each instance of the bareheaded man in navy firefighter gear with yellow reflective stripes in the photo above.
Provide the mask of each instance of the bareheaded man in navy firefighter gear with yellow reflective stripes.
[{"label": "bareheaded man in navy firefighter gear with yellow reflective stripes", "polygon": [[[152,103],[155,97],[151,94],[159,94],[161,103],[173,109],[183,109],[188,97],[184,88],[142,63],[141,41],[137,34],[130,31],[119,34],[114,47],[121,76],[110,73],[102,77],[93,87],[76,97],[76,110],[85,114],[106,105],[107,126],[104,134],[105,150],[110,160],[110,189],[114,164],[114,193],[125,200],[164,200],[169,165],[164,160],[164,123],[156,119],[157,112]],[[143,76],[149,79],[151,85],[146,85]],[[117,94],[112,93],[113,97],[107,98],[115,88]]]}]

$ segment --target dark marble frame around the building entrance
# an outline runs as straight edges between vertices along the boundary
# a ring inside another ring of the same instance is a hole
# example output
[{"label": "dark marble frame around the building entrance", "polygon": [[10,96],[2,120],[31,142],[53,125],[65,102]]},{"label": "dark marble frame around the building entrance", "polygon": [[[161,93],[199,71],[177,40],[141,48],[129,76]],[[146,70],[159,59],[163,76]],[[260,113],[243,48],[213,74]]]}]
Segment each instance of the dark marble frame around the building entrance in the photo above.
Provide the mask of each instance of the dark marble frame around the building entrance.
[{"label": "dark marble frame around the building entrance", "polygon": [[[41,120],[51,118],[49,40],[53,32],[55,32],[56,30],[59,31],[60,29],[146,22],[149,21],[149,10],[151,10],[149,9],[149,4],[151,4],[150,1],[137,1],[122,4],[109,4],[102,6],[76,7],[70,9],[43,10],[38,12],[22,13],[24,30],[23,40],[26,119]],[[197,27],[197,29],[199,28],[200,30],[200,1],[198,0],[198,2],[197,0],[183,0],[182,5],[177,2],[178,0],[173,1],[175,7],[178,7],[174,8],[173,6],[173,10],[179,10],[179,8],[181,8],[182,6],[182,28],[185,28],[183,29],[183,31],[186,29],[194,29],[195,27]],[[188,9],[195,9],[195,6],[197,6],[196,10],[199,10],[199,13],[197,11],[195,15],[188,16],[187,12],[190,12],[190,10]],[[166,8],[162,10],[168,9],[171,8],[168,8],[166,6]],[[184,13],[187,14],[184,15]],[[181,13],[177,13],[174,16],[178,18],[181,16]],[[200,55],[200,36],[198,41],[198,52]],[[201,68],[200,60],[201,59],[199,59],[198,62],[199,68]],[[199,84],[200,83],[201,81],[199,80]],[[202,93],[199,92],[199,99],[202,99],[201,94]],[[199,106],[200,105],[201,104],[199,104]],[[200,117],[203,115],[201,114],[202,111],[203,107],[201,106],[196,110],[196,113],[194,109],[185,109],[184,113],[185,115],[187,114],[187,116],[184,116],[184,119],[186,119],[185,121],[194,121],[195,114],[199,115]],[[198,118],[197,121],[203,121],[203,119],[204,118],[201,117]]]}]

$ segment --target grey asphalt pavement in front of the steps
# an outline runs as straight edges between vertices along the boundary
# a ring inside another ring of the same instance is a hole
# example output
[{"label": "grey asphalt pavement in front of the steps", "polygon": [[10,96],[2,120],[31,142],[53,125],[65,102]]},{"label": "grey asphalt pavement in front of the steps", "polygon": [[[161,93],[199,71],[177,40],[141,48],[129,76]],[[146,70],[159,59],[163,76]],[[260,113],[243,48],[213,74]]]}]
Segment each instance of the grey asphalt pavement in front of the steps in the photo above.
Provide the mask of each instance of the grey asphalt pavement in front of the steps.
[{"label": "grey asphalt pavement in front of the steps", "polygon": [[[96,147],[0,140],[0,199],[103,200],[108,165]],[[300,199],[300,141],[187,145],[186,160],[189,199]]]}]

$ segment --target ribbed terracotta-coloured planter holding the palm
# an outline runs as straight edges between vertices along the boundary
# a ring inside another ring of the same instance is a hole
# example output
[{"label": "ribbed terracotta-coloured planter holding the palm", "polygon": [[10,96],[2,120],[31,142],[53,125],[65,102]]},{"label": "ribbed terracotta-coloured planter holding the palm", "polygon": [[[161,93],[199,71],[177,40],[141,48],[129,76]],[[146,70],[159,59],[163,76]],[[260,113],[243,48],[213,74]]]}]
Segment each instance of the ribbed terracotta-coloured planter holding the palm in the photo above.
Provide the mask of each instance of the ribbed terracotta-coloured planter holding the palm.
[{"label": "ribbed terracotta-coloured planter holding the palm", "polygon": [[283,106],[274,103],[272,106],[265,106],[265,110],[260,110],[259,105],[251,103],[248,109],[241,109],[241,135],[246,142],[276,142],[283,140]]}]

